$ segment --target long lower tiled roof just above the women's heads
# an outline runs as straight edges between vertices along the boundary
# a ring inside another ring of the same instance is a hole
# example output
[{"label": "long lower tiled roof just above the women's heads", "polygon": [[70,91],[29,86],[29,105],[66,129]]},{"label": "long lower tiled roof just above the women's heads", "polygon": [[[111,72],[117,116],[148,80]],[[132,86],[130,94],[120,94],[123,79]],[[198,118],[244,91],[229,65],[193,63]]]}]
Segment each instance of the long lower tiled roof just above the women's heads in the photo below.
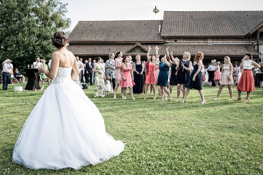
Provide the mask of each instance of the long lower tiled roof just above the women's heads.
[{"label": "long lower tiled roof just above the women's heads", "polygon": [[[251,45],[235,45],[235,44],[213,44],[213,45],[203,45],[203,44],[179,44],[179,45],[158,45],[160,48],[159,53],[161,55],[165,53],[165,47],[169,46],[169,50],[172,50],[174,55],[182,55],[185,51],[195,55],[198,51],[203,52],[205,55],[219,55],[219,56],[231,56],[231,55],[244,55],[247,52],[252,53],[252,55],[258,55],[257,51]],[[74,55],[108,55],[109,53],[116,53],[117,51],[122,51],[124,55],[146,55],[145,51],[143,53],[129,53],[133,44],[70,44],[68,50],[70,50]],[[143,45],[144,48],[148,49],[148,46]],[[152,46],[154,47],[154,46]],[[150,52],[151,55],[155,54],[154,49]]]}]

